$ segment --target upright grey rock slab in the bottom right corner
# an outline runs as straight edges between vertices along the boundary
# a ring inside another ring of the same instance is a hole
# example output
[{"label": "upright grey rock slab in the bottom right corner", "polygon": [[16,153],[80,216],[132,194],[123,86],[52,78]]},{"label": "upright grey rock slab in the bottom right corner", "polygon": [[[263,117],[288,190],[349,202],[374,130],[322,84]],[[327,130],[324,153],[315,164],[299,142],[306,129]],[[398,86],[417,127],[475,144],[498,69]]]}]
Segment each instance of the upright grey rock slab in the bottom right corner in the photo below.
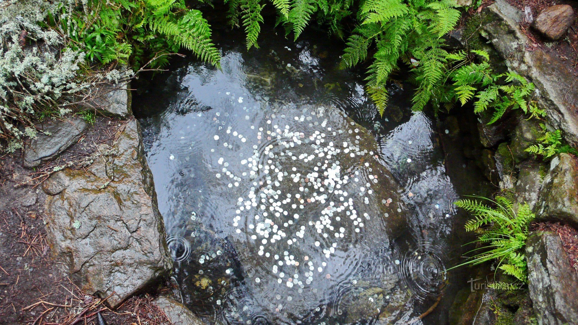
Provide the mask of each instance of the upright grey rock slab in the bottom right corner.
[{"label": "upright grey rock slab in the bottom right corner", "polygon": [[539,324],[578,324],[578,274],[553,232],[526,241],[528,287]]}]

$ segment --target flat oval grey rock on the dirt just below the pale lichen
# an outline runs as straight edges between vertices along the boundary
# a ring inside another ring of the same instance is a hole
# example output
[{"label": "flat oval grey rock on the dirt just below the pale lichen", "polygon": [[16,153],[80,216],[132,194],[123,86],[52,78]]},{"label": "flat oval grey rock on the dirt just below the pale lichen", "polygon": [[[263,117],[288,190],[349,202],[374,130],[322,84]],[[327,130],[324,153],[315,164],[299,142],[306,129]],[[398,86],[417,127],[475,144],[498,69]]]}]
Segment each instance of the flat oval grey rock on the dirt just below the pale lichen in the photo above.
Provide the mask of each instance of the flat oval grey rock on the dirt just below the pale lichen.
[{"label": "flat oval grey rock on the dirt just below the pale lichen", "polygon": [[51,120],[39,125],[47,134],[39,134],[24,147],[24,167],[36,167],[42,162],[52,160],[58,154],[73,145],[88,124],[79,117],[67,121]]}]

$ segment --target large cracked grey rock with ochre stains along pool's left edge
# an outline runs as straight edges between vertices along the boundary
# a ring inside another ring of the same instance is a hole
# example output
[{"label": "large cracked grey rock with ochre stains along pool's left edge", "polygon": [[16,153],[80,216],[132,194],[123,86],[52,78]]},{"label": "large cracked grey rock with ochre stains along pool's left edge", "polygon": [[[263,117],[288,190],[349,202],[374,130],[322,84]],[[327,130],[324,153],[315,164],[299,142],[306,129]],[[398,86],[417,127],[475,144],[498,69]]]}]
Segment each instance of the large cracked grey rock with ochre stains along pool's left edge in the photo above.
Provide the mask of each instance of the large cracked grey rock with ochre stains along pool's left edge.
[{"label": "large cracked grey rock with ochre stains along pool's left edge", "polygon": [[129,120],[118,140],[87,170],[66,168],[43,185],[46,231],[53,257],[84,292],[117,306],[171,268],[164,225],[139,124]]}]

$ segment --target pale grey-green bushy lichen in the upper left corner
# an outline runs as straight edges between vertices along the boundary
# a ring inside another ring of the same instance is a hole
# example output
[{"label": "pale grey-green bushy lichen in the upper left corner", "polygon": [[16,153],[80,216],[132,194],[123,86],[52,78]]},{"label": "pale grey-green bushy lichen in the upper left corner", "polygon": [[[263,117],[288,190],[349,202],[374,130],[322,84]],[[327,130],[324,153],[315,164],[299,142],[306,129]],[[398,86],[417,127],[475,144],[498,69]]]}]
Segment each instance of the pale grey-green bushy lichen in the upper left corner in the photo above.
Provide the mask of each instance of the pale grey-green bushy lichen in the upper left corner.
[{"label": "pale grey-green bushy lichen in the upper left corner", "polygon": [[[90,100],[92,87],[132,76],[132,71],[117,70],[81,75],[84,53],[66,48],[65,35],[71,31],[60,25],[57,32],[39,24],[49,13],[66,21],[77,5],[75,0],[0,3],[0,138],[6,141],[0,151],[14,152],[22,147],[24,137],[35,135],[31,130],[39,110],[65,115],[72,112],[77,98]],[[66,25],[73,28],[74,24]],[[24,124],[24,131],[18,124]]]}]

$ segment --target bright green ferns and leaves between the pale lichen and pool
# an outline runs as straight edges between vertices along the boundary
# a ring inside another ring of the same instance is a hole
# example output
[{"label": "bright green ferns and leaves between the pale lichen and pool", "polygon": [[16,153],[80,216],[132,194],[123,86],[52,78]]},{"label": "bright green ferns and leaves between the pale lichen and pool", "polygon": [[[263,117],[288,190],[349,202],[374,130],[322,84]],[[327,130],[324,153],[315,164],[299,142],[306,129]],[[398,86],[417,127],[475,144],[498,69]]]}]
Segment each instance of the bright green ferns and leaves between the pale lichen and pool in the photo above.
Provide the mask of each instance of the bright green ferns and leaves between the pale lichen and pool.
[{"label": "bright green ferns and leaves between the pale lichen and pool", "polygon": [[[220,67],[220,53],[211,41],[210,25],[184,0],[87,0],[76,8],[61,5],[46,26],[67,36],[72,50],[90,61],[127,64],[159,57],[154,67],[166,64],[168,54],[191,50],[201,60]],[[147,53],[145,55],[145,53]]]}]

